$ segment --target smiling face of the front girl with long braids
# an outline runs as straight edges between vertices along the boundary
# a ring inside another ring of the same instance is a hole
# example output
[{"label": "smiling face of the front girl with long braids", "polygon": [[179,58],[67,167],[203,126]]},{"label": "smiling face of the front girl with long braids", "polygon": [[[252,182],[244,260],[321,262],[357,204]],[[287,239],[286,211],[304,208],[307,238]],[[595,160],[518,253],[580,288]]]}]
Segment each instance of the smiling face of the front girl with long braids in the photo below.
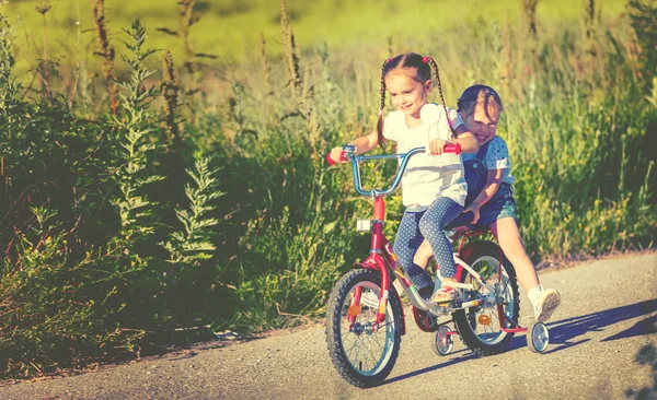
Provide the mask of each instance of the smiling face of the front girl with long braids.
[{"label": "smiling face of the front girl with long braids", "polygon": [[431,90],[431,81],[417,82],[408,77],[407,72],[415,73],[415,70],[390,72],[385,77],[385,87],[395,109],[405,115],[419,118],[419,109],[427,104],[427,94]]}]

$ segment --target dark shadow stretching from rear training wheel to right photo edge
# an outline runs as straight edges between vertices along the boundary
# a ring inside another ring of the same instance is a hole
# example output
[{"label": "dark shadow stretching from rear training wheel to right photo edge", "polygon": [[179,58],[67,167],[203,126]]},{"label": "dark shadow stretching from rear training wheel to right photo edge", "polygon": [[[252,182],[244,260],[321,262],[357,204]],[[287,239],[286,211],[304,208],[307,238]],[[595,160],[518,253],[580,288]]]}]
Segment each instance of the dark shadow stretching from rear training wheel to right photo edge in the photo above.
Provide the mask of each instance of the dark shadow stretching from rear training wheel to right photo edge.
[{"label": "dark shadow stretching from rear training wheel to right photo edge", "polygon": [[[657,298],[552,322],[549,325],[550,342],[561,345],[549,351],[548,353],[572,348],[590,340],[584,339],[579,341],[572,341],[577,337],[589,332],[602,332],[611,325],[641,317],[643,315],[648,315],[654,311],[657,311]],[[601,341],[607,342],[611,340],[632,338],[656,332],[657,315],[654,315],[636,322],[633,327],[609,338],[604,338]]]}]

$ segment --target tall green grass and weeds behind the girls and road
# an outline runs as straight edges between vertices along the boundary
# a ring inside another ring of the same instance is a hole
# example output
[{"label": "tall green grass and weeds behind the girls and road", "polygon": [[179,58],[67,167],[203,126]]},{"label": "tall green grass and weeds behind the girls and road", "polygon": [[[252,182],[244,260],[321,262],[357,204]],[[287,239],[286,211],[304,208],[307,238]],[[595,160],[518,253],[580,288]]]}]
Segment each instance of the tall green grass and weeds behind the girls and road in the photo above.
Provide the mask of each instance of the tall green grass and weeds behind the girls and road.
[{"label": "tall green grass and weeds behind the girls and road", "polygon": [[321,316],[370,212],[323,155],[373,129],[400,52],[438,61],[449,106],[473,83],[500,92],[539,266],[654,246],[654,0],[399,4],[2,5],[3,376]]}]

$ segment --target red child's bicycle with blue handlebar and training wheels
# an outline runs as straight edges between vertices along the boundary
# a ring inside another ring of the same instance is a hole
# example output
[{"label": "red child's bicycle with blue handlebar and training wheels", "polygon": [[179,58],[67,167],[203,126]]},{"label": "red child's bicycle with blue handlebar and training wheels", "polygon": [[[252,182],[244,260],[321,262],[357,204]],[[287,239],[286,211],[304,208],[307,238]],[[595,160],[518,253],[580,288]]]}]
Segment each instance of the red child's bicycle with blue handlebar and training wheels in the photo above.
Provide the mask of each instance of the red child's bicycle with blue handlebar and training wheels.
[{"label": "red child's bicycle with blue handlebar and training wheels", "polygon": [[[446,151],[458,154],[460,146],[448,144]],[[496,243],[468,240],[483,232],[465,233],[457,246],[457,280],[464,290],[464,296],[462,301],[447,306],[429,302],[430,294],[420,294],[396,262],[392,246],[383,235],[384,198],[397,189],[410,157],[426,152],[426,149],[369,156],[356,155],[355,152],[353,145],[343,146],[341,160],[351,163],[356,191],[373,201],[372,219],[359,220],[357,224],[358,231],[369,231],[372,236],[369,257],[335,284],[326,307],[326,343],[342,377],[356,387],[365,388],[379,385],[392,370],[400,352],[401,337],[406,332],[397,290],[403,290],[413,304],[413,316],[419,329],[435,333],[431,350],[438,355],[451,352],[456,334],[480,356],[497,354],[508,348],[518,332],[527,332],[531,351],[544,352],[550,342],[545,325],[534,322],[522,328],[517,322],[520,299],[514,266]],[[385,158],[400,160],[392,185],[385,190],[365,190],[360,184],[359,164]],[[327,160],[332,163],[328,156]],[[397,290],[391,290],[391,283]],[[449,316],[451,319],[439,321],[439,318]],[[450,327],[452,322],[454,329]]]}]

